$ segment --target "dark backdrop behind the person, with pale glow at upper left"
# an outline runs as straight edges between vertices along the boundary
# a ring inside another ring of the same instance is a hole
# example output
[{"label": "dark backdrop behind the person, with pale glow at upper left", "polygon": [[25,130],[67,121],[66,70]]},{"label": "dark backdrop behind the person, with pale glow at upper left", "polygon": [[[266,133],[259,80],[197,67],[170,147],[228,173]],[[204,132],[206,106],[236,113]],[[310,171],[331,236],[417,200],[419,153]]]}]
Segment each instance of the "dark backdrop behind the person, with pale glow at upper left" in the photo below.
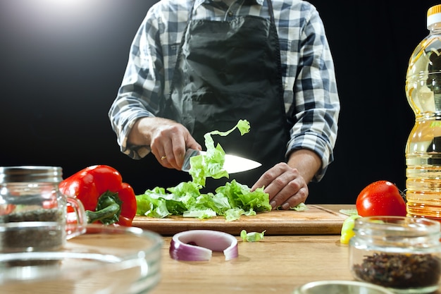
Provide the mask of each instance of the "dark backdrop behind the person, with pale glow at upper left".
[{"label": "dark backdrop behind the person, with pale glow at upper left", "polygon": [[[0,0],[0,166],[61,166],[64,176],[108,164],[140,194],[180,183],[151,156],[120,153],[107,112],[137,27],[154,0]],[[335,162],[311,203],[354,203],[375,180],[405,186],[414,125],[404,81],[428,35],[435,1],[311,0],[323,18],[341,100]],[[350,5],[348,5],[350,3]]]}]

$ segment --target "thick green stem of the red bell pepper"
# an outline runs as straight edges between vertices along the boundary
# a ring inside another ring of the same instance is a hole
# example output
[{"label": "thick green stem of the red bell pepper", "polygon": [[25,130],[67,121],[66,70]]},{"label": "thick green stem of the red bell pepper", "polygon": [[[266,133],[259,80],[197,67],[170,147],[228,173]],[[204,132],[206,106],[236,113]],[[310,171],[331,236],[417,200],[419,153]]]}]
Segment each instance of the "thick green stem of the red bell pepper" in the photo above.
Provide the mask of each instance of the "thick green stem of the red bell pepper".
[{"label": "thick green stem of the red bell pepper", "polygon": [[98,199],[97,210],[86,211],[87,223],[100,221],[105,225],[116,223],[120,218],[121,204],[118,192],[104,192]]}]

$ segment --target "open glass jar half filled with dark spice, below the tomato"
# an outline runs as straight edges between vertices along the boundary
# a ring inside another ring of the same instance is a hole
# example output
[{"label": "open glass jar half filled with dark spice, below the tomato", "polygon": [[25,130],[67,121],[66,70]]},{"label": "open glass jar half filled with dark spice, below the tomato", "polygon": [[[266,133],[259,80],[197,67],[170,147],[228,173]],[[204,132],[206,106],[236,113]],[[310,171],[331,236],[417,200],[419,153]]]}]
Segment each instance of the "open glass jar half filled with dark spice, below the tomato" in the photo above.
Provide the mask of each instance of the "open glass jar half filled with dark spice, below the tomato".
[{"label": "open glass jar half filled with dark spice, below the tomato", "polygon": [[433,293],[441,275],[440,223],[409,216],[355,220],[349,267],[359,281],[399,294]]}]

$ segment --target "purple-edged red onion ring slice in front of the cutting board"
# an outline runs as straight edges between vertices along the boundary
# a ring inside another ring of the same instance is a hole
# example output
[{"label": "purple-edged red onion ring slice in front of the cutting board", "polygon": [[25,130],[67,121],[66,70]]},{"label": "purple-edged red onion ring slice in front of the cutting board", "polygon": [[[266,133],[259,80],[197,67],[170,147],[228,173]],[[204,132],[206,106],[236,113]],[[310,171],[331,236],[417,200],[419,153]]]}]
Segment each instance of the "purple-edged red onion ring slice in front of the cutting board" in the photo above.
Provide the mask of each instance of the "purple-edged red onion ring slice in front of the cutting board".
[{"label": "purple-edged red onion ring slice in front of the cutting board", "polygon": [[223,251],[225,260],[239,256],[237,239],[228,233],[211,230],[190,230],[173,235],[170,257],[185,261],[208,261],[213,251]]}]

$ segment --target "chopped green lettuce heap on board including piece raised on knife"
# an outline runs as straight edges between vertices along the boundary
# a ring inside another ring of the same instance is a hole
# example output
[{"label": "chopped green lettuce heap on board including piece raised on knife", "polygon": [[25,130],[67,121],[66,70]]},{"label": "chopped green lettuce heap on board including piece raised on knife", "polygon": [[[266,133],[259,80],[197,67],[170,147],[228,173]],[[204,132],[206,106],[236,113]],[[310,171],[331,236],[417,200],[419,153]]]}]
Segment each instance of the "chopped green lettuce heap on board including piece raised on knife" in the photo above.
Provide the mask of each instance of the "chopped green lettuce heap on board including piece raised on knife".
[{"label": "chopped green lettuce heap on board including piece raised on knife", "polygon": [[237,125],[227,132],[214,130],[204,135],[206,154],[197,155],[190,159],[190,175],[192,181],[182,182],[172,188],[146,190],[137,195],[137,215],[163,218],[169,215],[197,217],[207,219],[212,216],[225,216],[226,221],[235,221],[241,215],[255,215],[256,212],[269,212],[268,193],[263,188],[251,192],[247,185],[232,180],[218,187],[213,194],[201,194],[207,177],[228,178],[223,169],[225,152],[221,145],[214,146],[211,135],[226,136],[233,130],[239,129],[241,135],[249,132],[249,122],[240,120]]}]

